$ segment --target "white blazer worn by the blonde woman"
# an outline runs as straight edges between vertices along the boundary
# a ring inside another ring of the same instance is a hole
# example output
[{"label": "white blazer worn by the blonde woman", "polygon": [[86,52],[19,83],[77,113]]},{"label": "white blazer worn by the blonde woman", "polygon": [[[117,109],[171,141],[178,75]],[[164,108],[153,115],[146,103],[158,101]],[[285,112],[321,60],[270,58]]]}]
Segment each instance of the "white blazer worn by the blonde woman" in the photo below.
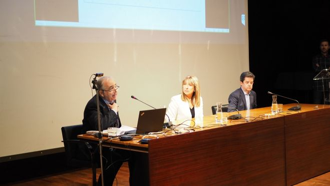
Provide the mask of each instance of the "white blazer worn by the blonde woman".
[{"label": "white blazer worn by the blonde woman", "polygon": [[[171,102],[168,105],[166,114],[173,120],[191,119],[191,112],[189,108],[189,103],[187,101],[181,100],[181,94],[173,96]],[[200,97],[200,106],[195,107],[195,118],[203,117],[203,99]],[[167,121],[167,117],[165,117]]]}]

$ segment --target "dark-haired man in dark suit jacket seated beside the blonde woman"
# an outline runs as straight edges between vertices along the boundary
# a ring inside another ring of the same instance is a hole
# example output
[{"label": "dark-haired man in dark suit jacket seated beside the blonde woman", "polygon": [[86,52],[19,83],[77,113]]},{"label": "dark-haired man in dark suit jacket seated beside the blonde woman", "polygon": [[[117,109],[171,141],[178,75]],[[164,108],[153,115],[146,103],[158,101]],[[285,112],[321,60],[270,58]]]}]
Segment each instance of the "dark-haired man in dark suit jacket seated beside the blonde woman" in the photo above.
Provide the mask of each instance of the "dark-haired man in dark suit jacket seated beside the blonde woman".
[{"label": "dark-haired man in dark suit jacket seated beside the blonde woman", "polygon": [[[257,95],[252,90],[255,76],[251,72],[243,72],[240,76],[241,87],[229,95],[228,107],[237,108],[237,110],[249,110],[257,107]],[[234,109],[228,109],[233,112]]]}]

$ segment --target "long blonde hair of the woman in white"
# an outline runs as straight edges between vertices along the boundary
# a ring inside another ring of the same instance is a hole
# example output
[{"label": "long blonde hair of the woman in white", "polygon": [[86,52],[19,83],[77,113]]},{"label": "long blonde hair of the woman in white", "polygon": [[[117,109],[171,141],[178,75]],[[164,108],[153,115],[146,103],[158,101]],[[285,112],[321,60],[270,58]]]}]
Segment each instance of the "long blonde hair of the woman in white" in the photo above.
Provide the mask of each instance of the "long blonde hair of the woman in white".
[{"label": "long blonde hair of the woman in white", "polygon": [[183,92],[183,85],[187,82],[187,84],[192,84],[194,86],[194,92],[191,97],[191,104],[199,107],[200,106],[200,92],[199,92],[199,81],[196,76],[187,76],[182,81],[182,88],[181,88],[181,100],[182,101],[188,101],[187,96]]}]

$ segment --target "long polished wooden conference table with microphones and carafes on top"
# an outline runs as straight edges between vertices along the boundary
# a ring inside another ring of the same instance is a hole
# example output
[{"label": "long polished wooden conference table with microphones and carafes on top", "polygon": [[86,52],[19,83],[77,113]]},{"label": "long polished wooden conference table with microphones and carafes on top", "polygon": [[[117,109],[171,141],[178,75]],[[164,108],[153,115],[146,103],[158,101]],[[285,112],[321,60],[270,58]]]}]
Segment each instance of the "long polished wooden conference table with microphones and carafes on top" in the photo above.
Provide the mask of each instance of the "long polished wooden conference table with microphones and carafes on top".
[{"label": "long polished wooden conference table with microphones and carafes on top", "polygon": [[226,123],[214,115],[185,121],[194,131],[180,125],[176,131],[188,132],[170,130],[149,144],[140,144],[141,136],[103,137],[102,144],[148,153],[150,185],[293,185],[330,170],[330,105],[287,111],[292,106],[274,116],[270,107],[240,111],[246,120]]}]

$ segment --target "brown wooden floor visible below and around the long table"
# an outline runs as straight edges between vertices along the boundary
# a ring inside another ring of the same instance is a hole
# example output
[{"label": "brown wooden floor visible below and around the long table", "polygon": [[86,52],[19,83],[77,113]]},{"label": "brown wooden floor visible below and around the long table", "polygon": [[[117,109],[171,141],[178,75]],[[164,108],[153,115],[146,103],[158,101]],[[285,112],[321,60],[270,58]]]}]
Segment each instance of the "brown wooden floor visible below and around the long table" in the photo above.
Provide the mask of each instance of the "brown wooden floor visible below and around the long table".
[{"label": "brown wooden floor visible below and around the long table", "polygon": [[[97,177],[99,175],[100,168],[97,170]],[[127,162],[123,163],[117,173],[117,181],[114,181],[113,185],[129,185],[128,182],[129,172]],[[8,185],[47,185],[47,186],[59,186],[59,185],[72,185],[72,186],[83,186],[92,185],[92,169],[79,169],[70,172],[64,172],[57,175],[45,176],[35,178],[33,180],[25,180],[17,183],[11,183]],[[330,172],[324,173],[317,177],[303,181],[296,184],[297,186],[306,185],[330,185]]]}]

